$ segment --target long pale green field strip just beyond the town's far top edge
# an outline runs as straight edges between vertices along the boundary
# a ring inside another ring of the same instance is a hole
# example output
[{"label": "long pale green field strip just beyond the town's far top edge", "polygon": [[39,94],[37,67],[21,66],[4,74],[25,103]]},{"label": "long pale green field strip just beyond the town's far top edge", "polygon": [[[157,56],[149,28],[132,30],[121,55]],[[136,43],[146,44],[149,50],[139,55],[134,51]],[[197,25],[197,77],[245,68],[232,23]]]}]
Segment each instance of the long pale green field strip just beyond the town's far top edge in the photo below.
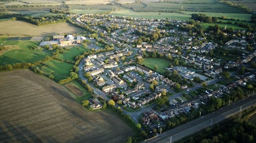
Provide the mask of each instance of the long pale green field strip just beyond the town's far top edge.
[{"label": "long pale green field strip just beyond the town's far top edge", "polygon": [[167,13],[167,12],[135,12],[132,10],[119,10],[113,11],[110,15],[114,16],[130,16],[130,17],[137,17],[137,18],[168,18],[168,19],[179,19],[179,20],[188,20],[191,18],[189,14],[182,14],[182,13]]}]

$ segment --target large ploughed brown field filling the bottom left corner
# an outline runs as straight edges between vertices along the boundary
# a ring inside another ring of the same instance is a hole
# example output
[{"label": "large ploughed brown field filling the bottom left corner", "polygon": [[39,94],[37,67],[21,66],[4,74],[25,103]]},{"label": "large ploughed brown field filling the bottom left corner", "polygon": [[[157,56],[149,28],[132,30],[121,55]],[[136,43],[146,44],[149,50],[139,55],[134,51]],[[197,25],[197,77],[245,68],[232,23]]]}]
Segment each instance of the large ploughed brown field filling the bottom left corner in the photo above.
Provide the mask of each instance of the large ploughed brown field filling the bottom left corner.
[{"label": "large ploughed brown field filling the bottom left corner", "polygon": [[0,142],[123,142],[131,128],[29,70],[0,73]]}]

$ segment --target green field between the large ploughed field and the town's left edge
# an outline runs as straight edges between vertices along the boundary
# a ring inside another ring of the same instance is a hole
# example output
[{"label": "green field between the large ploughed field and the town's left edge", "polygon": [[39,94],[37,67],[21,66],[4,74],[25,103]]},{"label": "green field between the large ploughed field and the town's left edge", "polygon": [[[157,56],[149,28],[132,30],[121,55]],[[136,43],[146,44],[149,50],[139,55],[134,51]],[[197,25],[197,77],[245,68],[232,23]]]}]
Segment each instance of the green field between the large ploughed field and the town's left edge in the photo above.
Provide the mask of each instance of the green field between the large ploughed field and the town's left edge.
[{"label": "green field between the large ploughed field and the town's left edge", "polygon": [[53,75],[54,80],[59,81],[70,76],[70,70],[73,65],[65,62],[60,62],[56,60],[47,61],[44,65],[41,65],[41,70],[48,75]]}]

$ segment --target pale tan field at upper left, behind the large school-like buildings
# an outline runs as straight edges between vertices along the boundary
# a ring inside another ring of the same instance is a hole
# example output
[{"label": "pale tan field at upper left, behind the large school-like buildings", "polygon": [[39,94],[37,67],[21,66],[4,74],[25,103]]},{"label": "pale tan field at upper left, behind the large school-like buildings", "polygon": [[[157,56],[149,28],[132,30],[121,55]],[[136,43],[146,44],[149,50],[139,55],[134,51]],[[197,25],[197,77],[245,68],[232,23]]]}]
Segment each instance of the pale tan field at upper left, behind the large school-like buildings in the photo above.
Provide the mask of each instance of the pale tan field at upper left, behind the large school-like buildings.
[{"label": "pale tan field at upper left, behind the large school-like buildings", "polygon": [[36,26],[24,21],[0,21],[0,35],[4,36],[46,36],[53,34],[77,33],[80,28],[70,23],[56,23]]}]

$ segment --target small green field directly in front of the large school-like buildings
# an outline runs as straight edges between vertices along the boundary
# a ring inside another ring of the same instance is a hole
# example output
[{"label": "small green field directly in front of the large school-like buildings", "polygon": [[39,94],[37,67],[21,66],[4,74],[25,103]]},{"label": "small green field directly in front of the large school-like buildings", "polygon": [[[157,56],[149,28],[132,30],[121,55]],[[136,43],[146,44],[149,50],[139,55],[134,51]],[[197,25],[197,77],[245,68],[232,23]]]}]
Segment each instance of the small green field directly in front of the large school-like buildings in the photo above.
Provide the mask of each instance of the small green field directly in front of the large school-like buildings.
[{"label": "small green field directly in front of the large school-like buildings", "polygon": [[67,61],[75,61],[74,58],[76,55],[82,54],[84,51],[88,51],[88,48],[84,48],[83,46],[75,46],[69,47],[69,50],[65,50],[65,52],[59,54],[59,58],[67,60]]}]

